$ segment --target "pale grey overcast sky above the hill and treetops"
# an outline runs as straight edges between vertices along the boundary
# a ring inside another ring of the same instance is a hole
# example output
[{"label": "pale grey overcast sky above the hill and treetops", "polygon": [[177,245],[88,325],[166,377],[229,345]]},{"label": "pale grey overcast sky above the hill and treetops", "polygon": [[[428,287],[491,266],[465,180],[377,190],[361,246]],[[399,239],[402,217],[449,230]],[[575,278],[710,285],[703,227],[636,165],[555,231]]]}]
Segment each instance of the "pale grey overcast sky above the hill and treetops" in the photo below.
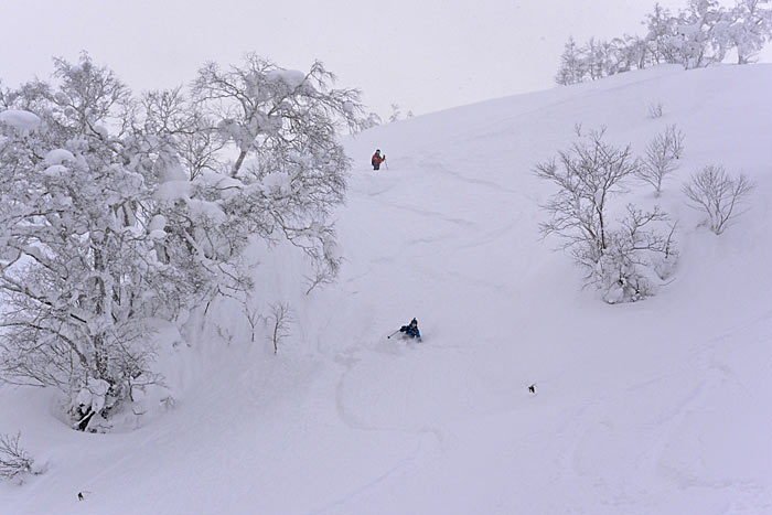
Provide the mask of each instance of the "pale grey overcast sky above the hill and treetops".
[{"label": "pale grey overcast sky above the hill and treetops", "polygon": [[[680,7],[686,0],[660,0]],[[643,34],[654,0],[3,0],[0,78],[47,77],[86,50],[136,92],[190,82],[255,51],[319,58],[382,116],[425,114],[554,86],[569,35]],[[770,51],[764,57],[770,55]],[[764,58],[764,61],[769,61]]]}]

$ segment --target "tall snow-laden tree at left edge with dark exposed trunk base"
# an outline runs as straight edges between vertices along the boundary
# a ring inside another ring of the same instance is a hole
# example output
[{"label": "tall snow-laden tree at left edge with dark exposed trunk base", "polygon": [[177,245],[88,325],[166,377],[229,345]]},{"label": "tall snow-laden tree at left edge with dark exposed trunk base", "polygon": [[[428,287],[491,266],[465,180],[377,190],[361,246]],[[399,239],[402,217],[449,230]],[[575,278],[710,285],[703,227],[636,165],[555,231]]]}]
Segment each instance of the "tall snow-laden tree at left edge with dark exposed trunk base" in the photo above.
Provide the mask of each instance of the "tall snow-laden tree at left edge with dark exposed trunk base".
[{"label": "tall snow-laden tree at left edge with dark exposed trunk base", "polygon": [[159,379],[144,319],[195,285],[156,255],[156,155],[130,93],[87,55],[55,68],[56,87],[26,84],[0,112],[0,374],[69,393],[85,428]]}]

